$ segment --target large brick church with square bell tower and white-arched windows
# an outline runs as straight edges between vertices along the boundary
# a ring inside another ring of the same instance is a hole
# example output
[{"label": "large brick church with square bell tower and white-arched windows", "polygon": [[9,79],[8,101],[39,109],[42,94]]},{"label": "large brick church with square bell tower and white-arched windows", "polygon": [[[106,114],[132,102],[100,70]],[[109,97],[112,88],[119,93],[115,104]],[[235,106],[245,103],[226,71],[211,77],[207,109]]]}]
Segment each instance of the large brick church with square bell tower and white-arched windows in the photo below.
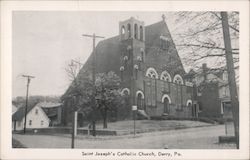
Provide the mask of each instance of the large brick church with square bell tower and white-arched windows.
[{"label": "large brick church with square bell tower and white-arched windows", "polygon": [[[93,54],[82,69],[91,69],[92,58]],[[120,76],[121,94],[129,97],[130,111],[136,105],[148,117],[197,116],[194,89],[184,78],[186,73],[164,16],[148,26],[134,17],[119,22],[119,35],[96,46],[96,70]],[[64,118],[69,107],[65,101]]]}]

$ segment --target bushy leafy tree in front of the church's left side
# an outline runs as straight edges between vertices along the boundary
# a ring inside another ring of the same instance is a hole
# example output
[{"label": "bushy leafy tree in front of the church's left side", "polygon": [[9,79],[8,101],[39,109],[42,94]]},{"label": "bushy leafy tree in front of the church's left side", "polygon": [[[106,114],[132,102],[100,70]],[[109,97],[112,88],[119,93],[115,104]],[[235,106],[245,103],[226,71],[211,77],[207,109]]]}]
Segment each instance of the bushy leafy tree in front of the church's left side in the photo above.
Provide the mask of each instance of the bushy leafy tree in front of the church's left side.
[{"label": "bushy leafy tree in front of the church's left side", "polygon": [[122,102],[120,77],[112,71],[98,73],[93,85],[91,73],[79,68],[70,64],[66,69],[72,83],[63,97],[70,97],[74,110],[81,110],[85,115],[91,115],[92,120],[96,119],[99,111],[103,117],[103,127],[107,128],[108,111],[116,113]]}]

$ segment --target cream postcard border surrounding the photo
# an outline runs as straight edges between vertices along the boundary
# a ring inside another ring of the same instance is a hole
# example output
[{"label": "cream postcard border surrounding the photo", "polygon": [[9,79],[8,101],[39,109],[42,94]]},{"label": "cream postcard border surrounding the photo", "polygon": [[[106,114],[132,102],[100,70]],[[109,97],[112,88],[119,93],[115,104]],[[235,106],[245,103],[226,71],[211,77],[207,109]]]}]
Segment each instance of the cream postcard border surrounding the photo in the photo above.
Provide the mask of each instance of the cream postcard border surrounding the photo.
[{"label": "cream postcard border surrounding the photo", "polygon": [[[239,11],[240,12],[240,150],[169,150],[180,159],[249,158],[249,1],[1,1],[1,158],[89,159],[84,149],[12,149],[11,53],[12,11]],[[97,149],[96,149],[97,151]],[[101,151],[101,150],[98,150]],[[104,151],[104,150],[102,150]],[[112,150],[125,151],[125,150]],[[135,151],[138,150],[126,150]],[[148,150],[140,150],[148,151]],[[151,150],[166,151],[166,150]],[[111,159],[110,157],[107,157]],[[145,157],[115,157],[115,159]],[[149,157],[155,159],[154,157]],[[159,159],[161,157],[157,157]],[[106,159],[102,157],[101,159]],[[162,159],[168,159],[162,157]]]}]

